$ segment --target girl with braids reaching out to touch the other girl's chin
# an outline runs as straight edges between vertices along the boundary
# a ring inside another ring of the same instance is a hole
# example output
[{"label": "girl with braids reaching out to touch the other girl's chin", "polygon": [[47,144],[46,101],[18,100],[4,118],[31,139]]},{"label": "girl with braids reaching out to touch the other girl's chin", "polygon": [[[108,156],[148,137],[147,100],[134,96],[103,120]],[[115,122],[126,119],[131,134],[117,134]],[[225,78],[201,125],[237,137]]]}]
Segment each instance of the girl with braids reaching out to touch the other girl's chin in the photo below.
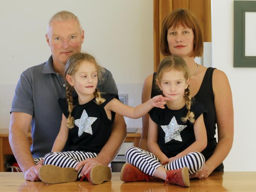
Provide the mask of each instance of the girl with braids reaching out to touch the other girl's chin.
[{"label": "girl with braids reaching out to touch the other girl's chin", "polygon": [[[59,99],[63,112],[61,127],[52,152],[45,155],[44,165],[39,169],[41,181],[52,184],[76,179],[87,179],[92,184],[110,181],[108,166],[88,160],[97,157],[104,148],[111,135],[115,113],[139,118],[153,107],[164,108],[162,103],[171,100],[158,95],[137,107],[124,105],[117,94],[101,94],[96,88],[102,71],[90,54],[76,53],[67,61],[67,94],[66,98]],[[66,143],[67,151],[63,151]]]}]

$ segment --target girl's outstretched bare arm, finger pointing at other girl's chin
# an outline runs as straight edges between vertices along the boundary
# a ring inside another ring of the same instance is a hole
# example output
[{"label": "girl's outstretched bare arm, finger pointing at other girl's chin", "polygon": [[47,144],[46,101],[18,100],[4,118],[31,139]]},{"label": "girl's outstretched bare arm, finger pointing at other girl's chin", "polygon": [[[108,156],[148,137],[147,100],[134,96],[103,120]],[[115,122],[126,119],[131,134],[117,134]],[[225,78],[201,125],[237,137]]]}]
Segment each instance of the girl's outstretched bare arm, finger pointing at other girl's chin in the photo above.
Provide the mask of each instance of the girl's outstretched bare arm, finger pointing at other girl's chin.
[{"label": "girl's outstretched bare arm, finger pointing at other girl's chin", "polygon": [[160,107],[161,109],[164,109],[164,105],[161,104],[165,100],[171,100],[170,98],[164,97],[162,95],[157,95],[148,100],[147,102],[138,105],[137,107],[130,107],[128,105],[124,105],[119,100],[114,98],[111,100],[105,107],[105,111],[110,110],[114,111],[115,113],[121,114],[122,116],[126,116],[129,118],[137,119],[150,111],[153,107]]}]

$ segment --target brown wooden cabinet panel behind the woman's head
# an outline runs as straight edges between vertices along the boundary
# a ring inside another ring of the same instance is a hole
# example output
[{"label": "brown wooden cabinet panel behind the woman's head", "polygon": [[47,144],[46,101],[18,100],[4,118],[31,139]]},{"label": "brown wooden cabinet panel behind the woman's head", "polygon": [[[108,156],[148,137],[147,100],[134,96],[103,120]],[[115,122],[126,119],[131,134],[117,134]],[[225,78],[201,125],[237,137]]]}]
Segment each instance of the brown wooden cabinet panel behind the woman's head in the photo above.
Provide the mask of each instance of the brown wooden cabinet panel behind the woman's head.
[{"label": "brown wooden cabinet panel behind the woman's head", "polygon": [[154,70],[164,58],[159,40],[163,19],[174,9],[189,9],[200,24],[204,42],[211,42],[211,0],[154,0]]}]

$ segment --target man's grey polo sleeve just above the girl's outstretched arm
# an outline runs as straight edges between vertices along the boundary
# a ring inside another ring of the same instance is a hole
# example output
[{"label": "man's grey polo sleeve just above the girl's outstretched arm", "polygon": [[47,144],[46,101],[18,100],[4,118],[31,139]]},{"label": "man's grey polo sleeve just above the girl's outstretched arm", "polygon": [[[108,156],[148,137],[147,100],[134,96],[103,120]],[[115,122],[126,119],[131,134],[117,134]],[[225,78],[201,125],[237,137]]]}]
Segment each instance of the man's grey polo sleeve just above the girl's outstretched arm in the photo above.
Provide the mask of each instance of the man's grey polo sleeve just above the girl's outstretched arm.
[{"label": "man's grey polo sleeve just above the girl's outstretched arm", "polygon": [[117,85],[111,72],[106,68],[104,69],[105,72],[102,74],[102,80],[98,83],[97,88],[103,93],[118,94]]}]

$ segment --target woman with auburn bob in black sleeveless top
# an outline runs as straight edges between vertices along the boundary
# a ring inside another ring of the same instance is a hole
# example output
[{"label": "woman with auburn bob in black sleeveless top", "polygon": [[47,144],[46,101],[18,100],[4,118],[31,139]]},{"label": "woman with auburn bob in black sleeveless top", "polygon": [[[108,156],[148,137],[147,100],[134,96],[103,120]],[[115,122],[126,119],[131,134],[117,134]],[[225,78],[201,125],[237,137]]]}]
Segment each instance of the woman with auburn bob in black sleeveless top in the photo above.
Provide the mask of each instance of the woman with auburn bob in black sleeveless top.
[{"label": "woman with auburn bob in black sleeveless top", "polygon": [[[207,131],[207,147],[202,154],[206,163],[202,170],[191,178],[206,179],[213,171],[223,171],[223,160],[228,155],[234,135],[234,113],[232,93],[228,78],[221,70],[207,68],[195,63],[195,57],[202,56],[203,38],[195,15],[186,9],[176,9],[163,20],[160,37],[160,50],[163,55],[182,57],[193,78],[190,82],[191,96],[204,104],[208,114],[204,118]],[[142,102],[159,94],[155,85],[155,74],[145,79]],[[218,130],[218,143],[214,137]],[[147,149],[148,114],[143,117],[143,131],[139,147]]]}]

